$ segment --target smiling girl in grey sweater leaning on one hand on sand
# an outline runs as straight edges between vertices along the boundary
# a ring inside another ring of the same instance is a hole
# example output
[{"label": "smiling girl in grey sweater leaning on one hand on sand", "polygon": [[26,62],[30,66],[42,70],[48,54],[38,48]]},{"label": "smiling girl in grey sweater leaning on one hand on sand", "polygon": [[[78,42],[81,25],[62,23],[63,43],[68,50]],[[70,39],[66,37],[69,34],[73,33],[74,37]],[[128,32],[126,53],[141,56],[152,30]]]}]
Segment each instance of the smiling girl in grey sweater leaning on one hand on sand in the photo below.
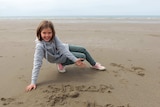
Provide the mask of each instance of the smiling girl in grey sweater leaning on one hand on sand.
[{"label": "smiling girl in grey sweater leaning on one hand on sand", "polygon": [[58,71],[66,72],[65,66],[76,64],[84,67],[83,61],[86,59],[97,70],[105,70],[105,67],[96,63],[88,51],[79,46],[63,44],[55,34],[54,26],[51,21],[42,21],[37,28],[37,39],[32,69],[31,84],[26,87],[26,91],[36,88],[36,80],[45,58],[50,63],[56,63]]}]

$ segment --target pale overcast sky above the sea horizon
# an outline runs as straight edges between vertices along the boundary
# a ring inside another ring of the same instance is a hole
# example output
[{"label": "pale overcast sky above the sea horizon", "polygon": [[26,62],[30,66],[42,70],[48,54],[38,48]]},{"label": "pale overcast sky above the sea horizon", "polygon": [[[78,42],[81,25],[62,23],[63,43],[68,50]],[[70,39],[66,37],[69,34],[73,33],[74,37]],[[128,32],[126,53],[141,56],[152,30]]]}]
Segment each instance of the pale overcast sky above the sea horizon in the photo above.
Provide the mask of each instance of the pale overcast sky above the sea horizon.
[{"label": "pale overcast sky above the sea horizon", "polygon": [[0,0],[0,16],[160,16],[160,0]]}]

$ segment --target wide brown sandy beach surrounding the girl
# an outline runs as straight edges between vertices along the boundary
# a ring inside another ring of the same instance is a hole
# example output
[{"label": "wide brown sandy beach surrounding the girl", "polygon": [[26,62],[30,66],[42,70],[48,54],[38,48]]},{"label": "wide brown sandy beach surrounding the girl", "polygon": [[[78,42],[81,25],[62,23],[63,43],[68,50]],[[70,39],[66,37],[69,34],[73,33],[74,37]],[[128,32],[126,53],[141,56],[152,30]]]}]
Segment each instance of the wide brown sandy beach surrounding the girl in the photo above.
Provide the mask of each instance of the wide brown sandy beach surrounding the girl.
[{"label": "wide brown sandy beach surrounding the girl", "polygon": [[86,47],[106,71],[43,61],[30,84],[36,27],[42,19],[0,20],[0,107],[159,107],[160,23],[148,20],[58,20],[59,38]]}]

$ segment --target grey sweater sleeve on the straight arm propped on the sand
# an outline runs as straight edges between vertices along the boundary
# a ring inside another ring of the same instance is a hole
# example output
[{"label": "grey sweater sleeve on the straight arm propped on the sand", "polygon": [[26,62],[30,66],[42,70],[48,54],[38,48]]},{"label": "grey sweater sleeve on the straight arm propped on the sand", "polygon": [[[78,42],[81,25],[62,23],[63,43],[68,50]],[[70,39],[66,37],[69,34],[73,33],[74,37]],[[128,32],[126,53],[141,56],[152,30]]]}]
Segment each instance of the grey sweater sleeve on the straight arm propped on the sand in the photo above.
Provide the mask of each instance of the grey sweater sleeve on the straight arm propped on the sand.
[{"label": "grey sweater sleeve on the straight arm propped on the sand", "polygon": [[35,53],[34,53],[34,61],[33,61],[33,69],[32,69],[32,78],[31,78],[32,84],[36,84],[38,74],[42,66],[43,57],[44,57],[44,50],[43,50],[42,45],[36,44]]}]

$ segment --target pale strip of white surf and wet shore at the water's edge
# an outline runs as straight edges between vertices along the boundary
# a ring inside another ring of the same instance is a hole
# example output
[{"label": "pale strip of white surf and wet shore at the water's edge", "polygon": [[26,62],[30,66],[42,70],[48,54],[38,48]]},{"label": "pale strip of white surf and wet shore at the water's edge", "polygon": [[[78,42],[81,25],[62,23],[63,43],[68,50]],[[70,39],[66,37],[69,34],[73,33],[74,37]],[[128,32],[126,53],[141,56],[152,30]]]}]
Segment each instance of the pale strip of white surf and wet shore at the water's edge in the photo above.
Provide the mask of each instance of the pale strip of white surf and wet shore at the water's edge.
[{"label": "pale strip of white surf and wet shore at the water's edge", "polygon": [[96,18],[96,17],[0,17],[0,21],[41,21],[51,20],[54,23],[128,23],[128,24],[160,24],[160,17],[152,18],[128,18],[128,17],[113,17],[113,18]]}]

